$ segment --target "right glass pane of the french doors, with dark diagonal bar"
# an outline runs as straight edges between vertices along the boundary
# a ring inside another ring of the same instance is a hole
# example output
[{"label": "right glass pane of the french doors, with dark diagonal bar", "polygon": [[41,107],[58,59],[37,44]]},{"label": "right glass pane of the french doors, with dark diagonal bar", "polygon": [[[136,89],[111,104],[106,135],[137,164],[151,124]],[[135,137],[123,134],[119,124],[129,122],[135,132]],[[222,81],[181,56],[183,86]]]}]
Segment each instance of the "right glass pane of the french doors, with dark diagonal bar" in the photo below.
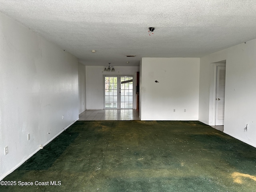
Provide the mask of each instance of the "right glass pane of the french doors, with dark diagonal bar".
[{"label": "right glass pane of the french doors, with dark diagonal bar", "polygon": [[133,106],[133,77],[121,76],[120,102],[121,109],[132,109]]}]

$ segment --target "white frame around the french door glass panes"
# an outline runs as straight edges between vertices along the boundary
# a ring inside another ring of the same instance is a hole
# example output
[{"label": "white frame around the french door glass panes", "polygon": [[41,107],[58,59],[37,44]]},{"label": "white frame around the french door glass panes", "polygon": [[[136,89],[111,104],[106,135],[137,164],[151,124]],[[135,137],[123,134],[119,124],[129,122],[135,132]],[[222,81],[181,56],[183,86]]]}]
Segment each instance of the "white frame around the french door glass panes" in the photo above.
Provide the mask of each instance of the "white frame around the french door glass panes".
[{"label": "white frame around the french door glass panes", "polygon": [[[136,109],[136,77],[135,75],[116,75],[116,74],[104,74],[103,75],[103,109],[121,109],[120,93],[119,88],[121,87],[121,76],[132,77],[132,109]],[[105,77],[117,77],[117,108],[106,108],[105,107]],[[125,109],[124,109],[125,110]]]}]

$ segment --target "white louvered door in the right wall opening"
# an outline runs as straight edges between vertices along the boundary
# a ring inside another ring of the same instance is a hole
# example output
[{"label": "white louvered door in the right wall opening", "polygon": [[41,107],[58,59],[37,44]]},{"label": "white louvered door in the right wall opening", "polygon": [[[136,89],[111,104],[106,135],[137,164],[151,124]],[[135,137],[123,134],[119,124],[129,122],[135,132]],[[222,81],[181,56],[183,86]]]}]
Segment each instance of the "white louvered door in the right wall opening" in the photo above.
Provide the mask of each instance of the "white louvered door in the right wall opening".
[{"label": "white louvered door in the right wall opening", "polygon": [[226,66],[217,66],[215,125],[224,125]]}]

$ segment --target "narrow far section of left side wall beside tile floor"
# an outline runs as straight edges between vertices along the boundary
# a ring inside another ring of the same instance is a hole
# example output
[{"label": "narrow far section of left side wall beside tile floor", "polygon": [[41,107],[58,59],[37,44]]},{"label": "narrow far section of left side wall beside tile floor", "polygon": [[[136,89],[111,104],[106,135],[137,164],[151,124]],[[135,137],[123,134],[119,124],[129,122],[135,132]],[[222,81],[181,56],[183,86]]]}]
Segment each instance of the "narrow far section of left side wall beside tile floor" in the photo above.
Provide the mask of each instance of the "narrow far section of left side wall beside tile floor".
[{"label": "narrow far section of left side wall beside tile floor", "polygon": [[86,110],[86,78],[85,65],[78,62],[78,93],[79,93],[79,114]]}]

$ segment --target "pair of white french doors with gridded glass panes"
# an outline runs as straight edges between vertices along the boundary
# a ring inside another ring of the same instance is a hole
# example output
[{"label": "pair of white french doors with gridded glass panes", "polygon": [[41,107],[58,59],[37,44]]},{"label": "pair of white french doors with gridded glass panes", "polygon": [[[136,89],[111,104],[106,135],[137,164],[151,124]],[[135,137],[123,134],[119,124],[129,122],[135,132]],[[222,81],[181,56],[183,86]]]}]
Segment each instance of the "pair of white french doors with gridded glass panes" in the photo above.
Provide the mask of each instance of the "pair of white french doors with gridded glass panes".
[{"label": "pair of white french doors with gridded glass panes", "polygon": [[133,108],[133,76],[104,76],[104,108]]}]

